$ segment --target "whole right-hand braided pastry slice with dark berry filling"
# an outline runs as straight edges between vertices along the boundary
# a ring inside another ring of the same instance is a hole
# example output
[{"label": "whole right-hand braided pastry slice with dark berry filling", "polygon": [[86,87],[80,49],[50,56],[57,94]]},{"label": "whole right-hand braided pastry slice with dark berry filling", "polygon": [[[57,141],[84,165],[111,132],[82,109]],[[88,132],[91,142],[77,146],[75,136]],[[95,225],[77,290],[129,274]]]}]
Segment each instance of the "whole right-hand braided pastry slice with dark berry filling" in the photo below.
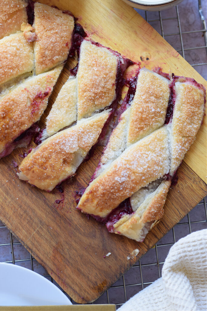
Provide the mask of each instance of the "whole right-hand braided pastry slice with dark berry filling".
[{"label": "whole right-hand braided pastry slice with dark berry filling", "polygon": [[205,89],[195,80],[141,69],[78,209],[109,232],[143,241],[163,216],[178,166],[195,140]]}]

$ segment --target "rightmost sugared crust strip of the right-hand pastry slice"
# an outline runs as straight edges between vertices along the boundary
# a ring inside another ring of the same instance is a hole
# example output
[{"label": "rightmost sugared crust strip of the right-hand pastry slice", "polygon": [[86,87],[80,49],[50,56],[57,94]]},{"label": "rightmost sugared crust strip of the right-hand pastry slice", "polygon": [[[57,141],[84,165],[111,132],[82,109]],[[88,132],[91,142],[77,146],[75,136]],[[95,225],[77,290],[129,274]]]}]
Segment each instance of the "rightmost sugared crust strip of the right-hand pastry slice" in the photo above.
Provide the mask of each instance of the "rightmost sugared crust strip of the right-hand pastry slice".
[{"label": "rightmost sugared crust strip of the right-hand pastry slice", "polygon": [[[175,82],[175,107],[171,124],[171,167],[173,175],[196,139],[204,115],[204,89],[191,82]],[[170,125],[170,124],[169,124]]]}]

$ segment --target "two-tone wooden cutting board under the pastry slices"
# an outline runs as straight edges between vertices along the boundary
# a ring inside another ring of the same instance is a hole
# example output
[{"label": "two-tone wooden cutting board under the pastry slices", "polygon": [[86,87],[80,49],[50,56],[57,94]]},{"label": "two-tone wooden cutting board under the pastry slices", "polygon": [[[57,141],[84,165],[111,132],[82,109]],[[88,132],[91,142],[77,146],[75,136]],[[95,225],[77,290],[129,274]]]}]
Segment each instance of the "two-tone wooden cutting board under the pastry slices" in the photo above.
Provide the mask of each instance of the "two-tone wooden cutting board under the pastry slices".
[{"label": "two-tone wooden cutting board under the pastry slices", "polygon": [[[205,85],[205,80],[121,0],[40,2],[70,10],[79,17],[89,38],[134,61],[141,61],[142,66],[162,67],[164,72],[193,77]],[[41,125],[75,64],[75,59],[67,62]],[[196,142],[178,169],[178,184],[169,191],[164,217],[143,243],[110,234],[105,226],[94,219],[88,220],[75,209],[74,191],[88,184],[98,164],[101,146],[88,162],[80,165],[72,179],[63,183],[64,203],[59,205],[55,200],[61,199],[62,194],[57,189],[47,193],[16,177],[12,161],[20,164],[19,154],[28,149],[17,149],[0,160],[0,220],[78,303],[97,299],[206,194],[206,116]],[[128,260],[127,256],[135,248],[139,254]],[[111,255],[104,258],[109,252]]]}]

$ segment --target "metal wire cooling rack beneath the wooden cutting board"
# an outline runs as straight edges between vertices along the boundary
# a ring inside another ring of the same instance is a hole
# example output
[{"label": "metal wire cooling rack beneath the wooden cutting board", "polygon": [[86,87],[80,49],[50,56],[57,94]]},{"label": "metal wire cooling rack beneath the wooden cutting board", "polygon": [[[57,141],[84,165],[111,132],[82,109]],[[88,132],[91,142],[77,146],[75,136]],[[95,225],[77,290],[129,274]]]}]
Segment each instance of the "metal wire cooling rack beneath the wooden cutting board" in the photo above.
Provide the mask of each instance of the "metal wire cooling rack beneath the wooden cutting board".
[{"label": "metal wire cooling rack beneath the wooden cutting board", "polygon": [[[203,6],[203,8],[202,8]],[[178,6],[162,12],[137,10],[195,69],[206,79],[207,34],[203,0],[184,0]],[[116,304],[117,309],[130,297],[161,276],[170,247],[187,234],[207,228],[205,197],[187,216],[131,267],[93,304]],[[188,204],[186,202],[186,204]],[[22,244],[0,222],[0,262],[27,267],[57,283]],[[0,280],[1,282],[1,280]],[[57,285],[59,288],[60,286]],[[67,294],[66,294],[67,295]],[[75,302],[70,299],[73,304]]]}]

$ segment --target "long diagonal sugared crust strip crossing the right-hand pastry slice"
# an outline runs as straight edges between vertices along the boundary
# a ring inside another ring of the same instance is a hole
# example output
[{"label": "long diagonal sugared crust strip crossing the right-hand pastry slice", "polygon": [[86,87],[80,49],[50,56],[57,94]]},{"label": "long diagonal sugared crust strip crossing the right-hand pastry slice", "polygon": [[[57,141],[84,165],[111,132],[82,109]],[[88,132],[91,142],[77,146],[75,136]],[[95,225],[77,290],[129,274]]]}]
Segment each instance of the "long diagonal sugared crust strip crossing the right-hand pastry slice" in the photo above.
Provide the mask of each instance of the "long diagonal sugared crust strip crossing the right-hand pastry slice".
[{"label": "long diagonal sugared crust strip crossing the right-hand pastry slice", "polygon": [[86,188],[78,207],[106,217],[140,188],[169,172],[169,135],[166,128],[151,133],[126,149]]}]

